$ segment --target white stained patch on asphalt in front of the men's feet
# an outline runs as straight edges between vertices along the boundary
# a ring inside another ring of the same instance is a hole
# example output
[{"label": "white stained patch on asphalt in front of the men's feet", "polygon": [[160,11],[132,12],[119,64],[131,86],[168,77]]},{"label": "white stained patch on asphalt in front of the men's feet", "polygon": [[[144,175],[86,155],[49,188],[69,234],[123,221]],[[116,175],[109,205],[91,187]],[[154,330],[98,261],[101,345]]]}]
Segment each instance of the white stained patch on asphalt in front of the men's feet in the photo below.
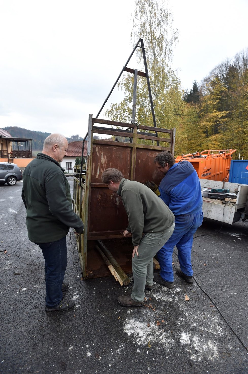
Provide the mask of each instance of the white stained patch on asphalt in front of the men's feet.
[{"label": "white stained patch on asphalt in front of the men's feet", "polygon": [[[124,332],[133,339],[137,349],[141,346],[153,346],[153,349],[156,347],[159,350],[162,346],[168,352],[174,346],[181,344],[182,350],[189,352],[189,357],[193,361],[201,361],[203,358],[210,361],[219,360],[216,338],[217,335],[223,335],[222,319],[219,315],[213,316],[212,310],[198,313],[192,308],[191,313],[188,304],[185,306],[184,299],[185,291],[180,288],[154,290],[151,300],[145,301],[147,304],[151,303],[153,307],[145,307],[138,316],[134,315],[133,310],[127,311]],[[170,321],[166,320],[167,303],[177,303],[176,308],[182,312],[180,313],[182,317],[177,321],[177,328],[174,324],[172,329]]]}]

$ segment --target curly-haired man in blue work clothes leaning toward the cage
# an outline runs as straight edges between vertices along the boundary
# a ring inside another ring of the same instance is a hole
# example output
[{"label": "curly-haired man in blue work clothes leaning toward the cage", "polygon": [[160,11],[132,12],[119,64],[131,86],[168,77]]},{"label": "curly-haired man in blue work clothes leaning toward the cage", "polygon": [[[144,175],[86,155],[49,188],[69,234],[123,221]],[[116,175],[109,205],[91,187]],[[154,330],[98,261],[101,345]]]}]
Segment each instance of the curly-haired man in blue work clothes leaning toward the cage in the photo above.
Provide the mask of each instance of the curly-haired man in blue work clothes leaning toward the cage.
[{"label": "curly-haired man in blue work clothes leaning toward the cage", "polygon": [[175,230],[158,251],[160,274],[154,273],[154,281],[167,288],[174,287],[172,253],[176,246],[180,269],[176,273],[188,283],[193,283],[191,249],[193,235],[203,222],[200,181],[192,164],[186,160],[175,163],[171,153],[161,152],[154,160],[157,169],[164,174],[160,185],[146,183],[166,203],[175,215]]}]

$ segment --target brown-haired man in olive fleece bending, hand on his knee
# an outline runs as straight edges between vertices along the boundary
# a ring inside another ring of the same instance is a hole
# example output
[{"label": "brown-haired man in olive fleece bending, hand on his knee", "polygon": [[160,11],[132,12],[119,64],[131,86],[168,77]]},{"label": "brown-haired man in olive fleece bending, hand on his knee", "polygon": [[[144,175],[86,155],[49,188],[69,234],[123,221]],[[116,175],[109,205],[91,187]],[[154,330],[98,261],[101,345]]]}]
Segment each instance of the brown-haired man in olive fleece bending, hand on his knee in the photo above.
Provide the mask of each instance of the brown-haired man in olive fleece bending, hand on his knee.
[{"label": "brown-haired man in olive fleece bending, hand on his knee", "polygon": [[125,179],[117,169],[106,169],[101,180],[122,197],[129,224],[123,235],[132,236],[134,245],[134,288],[131,295],[119,296],[117,300],[122,306],[142,306],[144,290],[153,288],[153,257],[172,235],[175,217],[167,205],[151,193],[150,188]]}]

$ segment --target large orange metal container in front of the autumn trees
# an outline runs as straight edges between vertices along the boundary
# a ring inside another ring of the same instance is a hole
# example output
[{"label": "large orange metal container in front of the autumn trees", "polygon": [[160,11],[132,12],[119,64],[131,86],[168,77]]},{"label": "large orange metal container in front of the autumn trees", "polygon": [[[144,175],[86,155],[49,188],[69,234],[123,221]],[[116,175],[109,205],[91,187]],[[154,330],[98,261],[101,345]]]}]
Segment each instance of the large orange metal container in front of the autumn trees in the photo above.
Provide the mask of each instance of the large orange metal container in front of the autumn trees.
[{"label": "large orange metal container in front of the autumn trees", "polygon": [[197,151],[176,157],[176,162],[182,160],[191,162],[201,179],[228,182],[231,155],[235,151],[236,149]]}]

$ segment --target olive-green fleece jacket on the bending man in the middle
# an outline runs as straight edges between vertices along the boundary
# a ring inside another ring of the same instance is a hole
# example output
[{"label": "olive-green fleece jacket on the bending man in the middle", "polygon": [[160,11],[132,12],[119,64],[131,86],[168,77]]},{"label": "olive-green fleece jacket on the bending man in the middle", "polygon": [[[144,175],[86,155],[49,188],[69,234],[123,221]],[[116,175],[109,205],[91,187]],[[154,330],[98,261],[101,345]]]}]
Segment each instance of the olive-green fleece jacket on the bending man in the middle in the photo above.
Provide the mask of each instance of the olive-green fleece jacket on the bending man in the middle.
[{"label": "olive-green fleece jacket on the bending man in the middle", "polygon": [[117,194],[128,215],[127,230],[132,233],[133,245],[138,245],[142,233],[162,232],[175,221],[167,205],[144,184],[122,178]]}]

